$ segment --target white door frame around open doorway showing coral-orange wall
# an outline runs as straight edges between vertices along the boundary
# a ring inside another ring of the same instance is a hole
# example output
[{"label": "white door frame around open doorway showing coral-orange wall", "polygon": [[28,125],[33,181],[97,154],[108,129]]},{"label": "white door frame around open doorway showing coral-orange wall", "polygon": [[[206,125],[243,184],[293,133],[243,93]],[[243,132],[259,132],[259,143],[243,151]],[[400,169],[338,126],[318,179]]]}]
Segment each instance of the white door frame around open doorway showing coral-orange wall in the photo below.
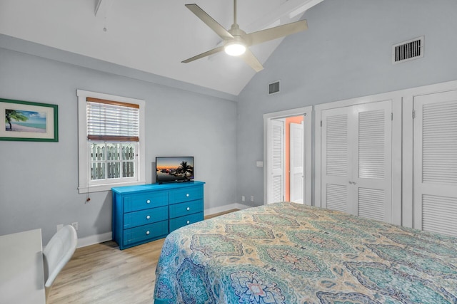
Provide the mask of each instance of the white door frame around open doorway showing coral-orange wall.
[{"label": "white door frame around open doorway showing coral-orange wall", "polygon": [[304,186],[303,190],[305,191],[305,195],[303,197],[303,204],[307,205],[314,205],[312,201],[312,184],[311,184],[311,177],[312,177],[312,149],[311,149],[311,135],[312,135],[312,117],[313,114],[313,107],[303,107],[303,108],[296,108],[291,110],[283,110],[279,112],[271,112],[263,114],[263,204],[266,204],[268,201],[268,137],[269,137],[269,125],[271,120],[278,120],[280,118],[286,118],[291,116],[299,116],[303,115],[305,118],[303,120],[303,144],[305,145],[305,150],[303,150],[303,164],[305,164],[306,172],[305,172],[305,179],[304,179]]}]

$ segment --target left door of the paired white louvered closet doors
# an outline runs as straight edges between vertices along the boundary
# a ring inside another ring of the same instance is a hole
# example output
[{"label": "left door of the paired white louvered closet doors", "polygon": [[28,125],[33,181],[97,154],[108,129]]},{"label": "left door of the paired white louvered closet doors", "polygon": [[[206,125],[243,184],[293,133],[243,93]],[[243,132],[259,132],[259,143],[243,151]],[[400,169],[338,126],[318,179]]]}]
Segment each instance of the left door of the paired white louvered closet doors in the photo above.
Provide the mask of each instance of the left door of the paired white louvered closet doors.
[{"label": "left door of the paired white louvered closet doors", "polygon": [[352,176],[349,147],[351,107],[322,111],[322,206],[351,212],[348,189]]}]

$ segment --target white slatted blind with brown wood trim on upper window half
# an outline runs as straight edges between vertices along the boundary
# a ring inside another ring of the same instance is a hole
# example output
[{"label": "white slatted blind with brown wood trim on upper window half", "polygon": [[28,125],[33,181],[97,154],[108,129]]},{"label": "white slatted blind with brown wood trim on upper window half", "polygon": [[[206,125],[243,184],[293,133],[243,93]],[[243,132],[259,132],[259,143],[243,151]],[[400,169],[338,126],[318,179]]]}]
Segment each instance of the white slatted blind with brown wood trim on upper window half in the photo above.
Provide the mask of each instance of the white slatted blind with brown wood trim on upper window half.
[{"label": "white slatted blind with brown wood trim on upper window half", "polygon": [[139,141],[139,105],[87,98],[87,139]]}]

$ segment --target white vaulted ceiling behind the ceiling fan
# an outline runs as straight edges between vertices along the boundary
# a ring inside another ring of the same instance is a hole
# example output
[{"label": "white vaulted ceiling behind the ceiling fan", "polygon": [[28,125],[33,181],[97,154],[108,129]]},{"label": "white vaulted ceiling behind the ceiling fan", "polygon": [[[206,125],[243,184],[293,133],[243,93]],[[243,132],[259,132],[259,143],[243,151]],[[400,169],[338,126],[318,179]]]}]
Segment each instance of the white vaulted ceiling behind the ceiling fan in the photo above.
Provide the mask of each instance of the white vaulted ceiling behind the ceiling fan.
[{"label": "white vaulted ceiling behind the ceiling fan", "polygon": [[[251,33],[296,21],[321,1],[238,0],[237,21]],[[225,28],[233,23],[232,0],[0,0],[0,33],[238,95],[255,74],[240,58],[219,53],[181,63],[221,42],[189,3]],[[281,40],[251,50],[264,63]]]}]

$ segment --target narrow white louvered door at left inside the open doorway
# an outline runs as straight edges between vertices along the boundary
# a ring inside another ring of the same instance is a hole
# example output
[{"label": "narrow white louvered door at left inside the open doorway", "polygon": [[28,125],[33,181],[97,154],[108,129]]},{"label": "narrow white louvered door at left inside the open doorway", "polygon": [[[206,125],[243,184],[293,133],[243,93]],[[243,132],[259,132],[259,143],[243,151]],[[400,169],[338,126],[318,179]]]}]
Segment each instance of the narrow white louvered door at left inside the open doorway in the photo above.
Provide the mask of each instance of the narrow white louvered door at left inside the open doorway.
[{"label": "narrow white louvered door at left inside the open doorway", "polygon": [[268,147],[271,172],[268,172],[268,204],[284,200],[284,122],[271,120]]}]

